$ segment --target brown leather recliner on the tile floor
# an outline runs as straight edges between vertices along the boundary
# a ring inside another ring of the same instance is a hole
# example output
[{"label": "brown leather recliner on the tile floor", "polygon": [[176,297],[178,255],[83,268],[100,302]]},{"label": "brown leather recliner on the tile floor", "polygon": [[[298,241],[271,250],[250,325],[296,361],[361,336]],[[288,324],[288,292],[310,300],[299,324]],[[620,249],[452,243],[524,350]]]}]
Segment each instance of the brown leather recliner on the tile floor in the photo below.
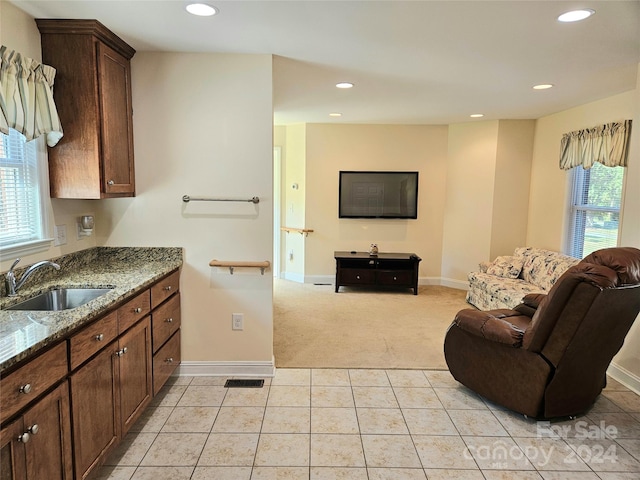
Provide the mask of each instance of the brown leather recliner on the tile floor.
[{"label": "brown leather recliner on the tile floor", "polygon": [[457,381],[494,403],[534,418],[578,415],[638,312],[640,250],[598,250],[514,310],[458,312],[444,354]]}]

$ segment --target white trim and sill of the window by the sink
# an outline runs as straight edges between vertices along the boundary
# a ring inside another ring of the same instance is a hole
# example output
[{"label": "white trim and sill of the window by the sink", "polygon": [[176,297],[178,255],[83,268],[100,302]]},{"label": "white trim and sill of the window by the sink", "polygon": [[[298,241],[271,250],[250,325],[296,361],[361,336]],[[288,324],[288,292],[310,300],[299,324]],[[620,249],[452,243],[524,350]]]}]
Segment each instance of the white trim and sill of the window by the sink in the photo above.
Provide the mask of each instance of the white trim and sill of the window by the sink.
[{"label": "white trim and sill of the window by the sink", "polygon": [[37,168],[37,185],[40,207],[40,238],[26,242],[19,242],[8,245],[0,245],[0,255],[3,259],[7,257],[19,257],[22,255],[31,255],[39,253],[51,248],[53,238],[50,232],[50,220],[48,205],[50,204],[49,194],[49,169],[47,165],[47,147],[44,136],[31,140],[36,147],[36,168]]}]

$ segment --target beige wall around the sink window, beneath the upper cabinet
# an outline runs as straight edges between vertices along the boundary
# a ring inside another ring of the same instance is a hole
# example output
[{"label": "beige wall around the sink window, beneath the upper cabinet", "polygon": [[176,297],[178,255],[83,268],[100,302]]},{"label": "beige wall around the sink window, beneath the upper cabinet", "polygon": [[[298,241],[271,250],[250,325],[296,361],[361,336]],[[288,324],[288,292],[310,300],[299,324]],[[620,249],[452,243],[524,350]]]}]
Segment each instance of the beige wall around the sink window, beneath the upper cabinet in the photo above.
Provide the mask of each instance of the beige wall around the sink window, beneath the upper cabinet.
[{"label": "beige wall around the sink window, beneath the upper cabinet", "polygon": [[[40,50],[40,32],[33,18],[13,4],[0,1],[0,44],[16,50],[23,55],[36,60],[42,59]],[[55,91],[55,85],[54,85]],[[64,123],[62,125],[64,130]],[[47,174],[47,172],[45,172]],[[82,215],[95,213],[96,203],[91,200],[57,200],[44,201],[44,208],[49,218],[48,235],[53,237],[54,225],[66,225],[67,243],[53,246],[32,255],[22,255],[20,265],[29,265],[39,260],[59,257],[61,255],[83,250],[96,245],[96,237],[82,237],[78,239],[76,223]],[[11,266],[14,256],[2,256],[0,271],[6,271]]]}]

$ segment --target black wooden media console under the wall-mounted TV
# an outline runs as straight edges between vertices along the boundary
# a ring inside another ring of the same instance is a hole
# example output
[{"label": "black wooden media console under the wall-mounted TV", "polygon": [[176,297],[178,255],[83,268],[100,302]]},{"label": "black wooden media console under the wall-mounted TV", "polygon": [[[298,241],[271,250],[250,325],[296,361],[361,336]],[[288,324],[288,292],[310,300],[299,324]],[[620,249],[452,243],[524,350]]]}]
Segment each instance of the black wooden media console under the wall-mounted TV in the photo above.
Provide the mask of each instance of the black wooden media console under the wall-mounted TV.
[{"label": "black wooden media console under the wall-mounted TV", "polygon": [[418,294],[418,265],[415,253],[334,252],[336,292],[341,286],[394,286],[413,288]]}]

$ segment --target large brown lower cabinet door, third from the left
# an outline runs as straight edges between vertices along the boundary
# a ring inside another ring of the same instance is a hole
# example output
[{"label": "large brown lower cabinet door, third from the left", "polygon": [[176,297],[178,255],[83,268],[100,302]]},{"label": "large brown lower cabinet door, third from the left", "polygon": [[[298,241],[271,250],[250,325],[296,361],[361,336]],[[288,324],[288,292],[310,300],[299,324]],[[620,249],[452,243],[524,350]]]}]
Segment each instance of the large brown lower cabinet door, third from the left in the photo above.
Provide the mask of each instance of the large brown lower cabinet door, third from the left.
[{"label": "large brown lower cabinet door, third from the left", "polygon": [[119,440],[119,357],[113,342],[71,375],[76,480],[100,465]]}]

